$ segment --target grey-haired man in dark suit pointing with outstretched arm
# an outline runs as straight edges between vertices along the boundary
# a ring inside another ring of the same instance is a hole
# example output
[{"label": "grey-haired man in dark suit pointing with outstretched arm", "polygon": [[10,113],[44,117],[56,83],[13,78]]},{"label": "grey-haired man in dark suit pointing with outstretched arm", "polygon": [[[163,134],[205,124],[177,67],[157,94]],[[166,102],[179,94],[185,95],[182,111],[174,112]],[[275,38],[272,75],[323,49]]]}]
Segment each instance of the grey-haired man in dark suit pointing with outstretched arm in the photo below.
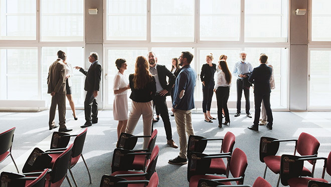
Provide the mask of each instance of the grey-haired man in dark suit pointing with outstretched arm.
[{"label": "grey-haired man in dark suit pointing with outstretched arm", "polygon": [[[98,123],[98,103],[96,97],[98,96],[98,91],[100,90],[101,81],[101,64],[98,62],[98,53],[92,52],[88,57],[89,61],[92,63],[88,71],[83,68],[76,66],[74,68],[79,69],[84,75],[86,91],[86,97],[84,101],[84,112],[85,112],[85,124],[80,126],[81,128],[89,127],[92,124]],[[92,116],[91,116],[92,113]]]}]

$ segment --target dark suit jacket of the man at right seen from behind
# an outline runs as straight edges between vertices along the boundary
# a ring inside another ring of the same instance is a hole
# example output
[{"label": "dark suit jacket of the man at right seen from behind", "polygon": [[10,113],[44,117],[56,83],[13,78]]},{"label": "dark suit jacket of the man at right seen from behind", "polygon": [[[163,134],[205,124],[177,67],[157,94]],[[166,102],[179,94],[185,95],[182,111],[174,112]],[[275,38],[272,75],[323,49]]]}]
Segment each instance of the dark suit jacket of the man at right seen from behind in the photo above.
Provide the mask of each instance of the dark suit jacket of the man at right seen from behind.
[{"label": "dark suit jacket of the man at right seen from behind", "polygon": [[266,64],[260,64],[253,69],[248,81],[254,84],[254,93],[257,95],[263,95],[271,92],[270,89],[270,77],[272,69]]}]

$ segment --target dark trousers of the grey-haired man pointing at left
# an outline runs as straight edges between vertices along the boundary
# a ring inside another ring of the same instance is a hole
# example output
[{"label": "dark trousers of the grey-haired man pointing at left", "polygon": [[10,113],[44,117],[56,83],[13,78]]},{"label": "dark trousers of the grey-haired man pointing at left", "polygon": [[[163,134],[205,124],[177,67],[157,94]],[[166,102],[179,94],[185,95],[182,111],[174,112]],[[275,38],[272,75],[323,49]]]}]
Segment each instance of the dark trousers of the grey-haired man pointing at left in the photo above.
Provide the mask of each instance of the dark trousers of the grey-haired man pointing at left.
[{"label": "dark trousers of the grey-haired man pointing at left", "polygon": [[92,120],[98,121],[98,103],[93,96],[93,92],[87,91],[84,101],[85,120],[87,123],[92,123]]}]

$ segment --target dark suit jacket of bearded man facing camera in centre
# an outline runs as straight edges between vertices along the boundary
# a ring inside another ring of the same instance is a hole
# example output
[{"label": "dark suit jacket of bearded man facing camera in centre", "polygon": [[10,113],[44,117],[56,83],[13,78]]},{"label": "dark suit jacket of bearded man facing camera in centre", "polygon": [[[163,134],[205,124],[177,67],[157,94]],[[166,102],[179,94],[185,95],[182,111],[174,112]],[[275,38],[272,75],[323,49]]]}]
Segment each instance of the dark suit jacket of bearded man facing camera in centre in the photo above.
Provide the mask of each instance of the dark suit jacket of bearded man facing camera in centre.
[{"label": "dark suit jacket of bearded man facing camera in centre", "polygon": [[[165,65],[156,64],[158,80],[163,89],[167,89],[168,93],[165,96],[170,96],[170,90],[176,81],[176,76]],[[169,83],[167,82],[167,76],[169,77]]]}]

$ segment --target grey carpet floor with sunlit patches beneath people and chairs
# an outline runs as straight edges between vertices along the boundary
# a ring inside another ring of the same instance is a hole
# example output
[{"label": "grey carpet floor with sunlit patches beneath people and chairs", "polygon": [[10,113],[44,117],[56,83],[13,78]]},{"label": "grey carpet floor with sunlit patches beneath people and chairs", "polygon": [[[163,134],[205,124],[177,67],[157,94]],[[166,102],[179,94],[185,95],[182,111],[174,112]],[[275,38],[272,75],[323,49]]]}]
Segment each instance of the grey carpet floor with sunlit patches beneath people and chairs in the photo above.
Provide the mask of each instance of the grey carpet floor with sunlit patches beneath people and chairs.
[{"label": "grey carpet floor with sunlit patches beneath people and chairs", "polygon": [[[1,112],[0,113],[0,132],[16,127],[13,156],[19,170],[22,171],[23,165],[34,147],[43,150],[49,149],[51,134],[55,131],[48,130],[48,112]],[[77,111],[78,120],[74,121],[72,112],[67,111],[67,126],[72,128],[70,134],[78,134],[81,131],[79,126],[84,124],[84,112]],[[331,151],[331,113],[330,112],[273,112],[274,129],[268,130],[265,126],[260,126],[258,132],[247,129],[252,125],[253,119],[245,115],[234,117],[235,112],[230,111],[231,125],[218,128],[217,120],[214,123],[204,122],[202,112],[193,112],[193,127],[196,135],[216,138],[224,137],[230,131],[236,136],[235,148],[242,149],[248,158],[248,167],[245,172],[244,184],[252,185],[258,176],[263,176],[265,164],[259,160],[259,141],[260,137],[274,137],[278,139],[297,139],[301,132],[315,136],[320,142],[318,151],[319,156],[327,157]],[[252,113],[253,115],[254,113]],[[217,117],[216,111],[212,115]],[[58,123],[56,116],[56,123]],[[172,122],[173,139],[179,144],[174,117],[170,117]],[[103,174],[110,174],[113,150],[117,140],[117,121],[112,118],[112,111],[99,111],[99,122],[88,128],[87,137],[84,145],[83,155],[92,174],[92,184],[89,184],[88,175],[84,163],[80,160],[72,168],[74,176],[79,186],[99,186]],[[156,170],[159,176],[159,186],[177,187],[189,186],[187,180],[187,164],[171,165],[168,160],[175,158],[179,149],[169,147],[162,120],[154,124],[158,130],[156,144],[160,148]],[[142,120],[134,131],[134,135],[142,135]],[[138,148],[142,141],[138,142]],[[219,153],[221,144],[219,142],[208,143],[205,153]],[[282,143],[277,154],[293,153],[294,143]],[[321,176],[322,161],[318,161],[315,168],[315,177]],[[305,165],[311,168],[311,165]],[[1,171],[16,172],[10,158],[0,163]],[[71,179],[71,178],[70,178]],[[267,170],[266,180],[272,186],[276,186],[278,175]],[[326,174],[325,179],[331,181],[331,177]],[[71,180],[72,181],[72,180]],[[73,183],[73,182],[72,182]],[[62,186],[69,186],[65,180]],[[282,186],[280,184],[280,186]]]}]

